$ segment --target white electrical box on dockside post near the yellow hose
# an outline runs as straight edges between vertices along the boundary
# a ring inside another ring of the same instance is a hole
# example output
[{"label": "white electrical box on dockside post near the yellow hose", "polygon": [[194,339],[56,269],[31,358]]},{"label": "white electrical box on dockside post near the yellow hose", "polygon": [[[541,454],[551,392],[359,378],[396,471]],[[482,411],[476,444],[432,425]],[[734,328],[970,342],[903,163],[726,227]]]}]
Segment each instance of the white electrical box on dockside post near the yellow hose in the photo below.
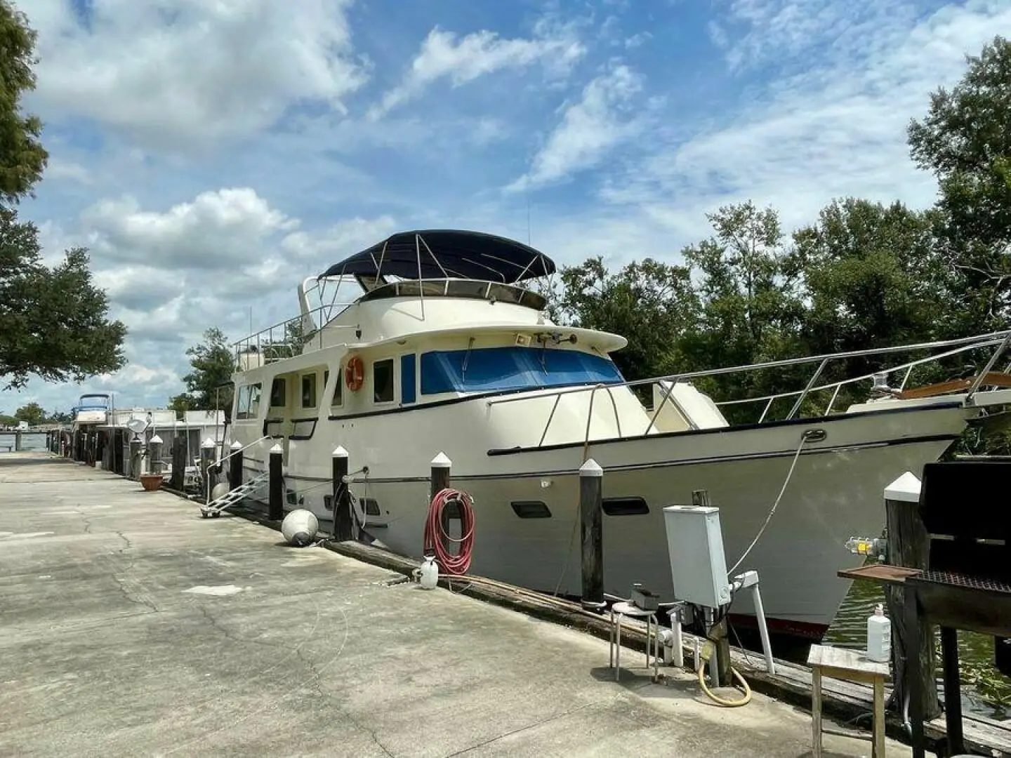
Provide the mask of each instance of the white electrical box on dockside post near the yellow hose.
[{"label": "white electrical box on dockside post near the yellow hose", "polygon": [[674,599],[718,608],[730,602],[720,509],[668,505],[663,509]]}]

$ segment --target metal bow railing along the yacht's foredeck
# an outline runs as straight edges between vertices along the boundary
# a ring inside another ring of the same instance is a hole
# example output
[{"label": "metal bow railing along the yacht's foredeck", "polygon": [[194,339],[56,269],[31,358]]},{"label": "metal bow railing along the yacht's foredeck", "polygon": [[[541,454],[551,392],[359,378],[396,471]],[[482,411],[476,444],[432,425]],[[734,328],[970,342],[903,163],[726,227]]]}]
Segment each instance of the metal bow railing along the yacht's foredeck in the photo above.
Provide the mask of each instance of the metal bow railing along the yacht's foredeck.
[{"label": "metal bow railing along the yacht's foredeck", "polygon": [[[716,369],[705,369],[701,371],[686,371],[678,374],[669,374],[667,376],[654,377],[650,379],[636,379],[624,382],[609,382],[607,384],[592,384],[584,385],[580,387],[565,387],[553,391],[543,392],[538,394],[538,398],[553,397],[554,403],[551,406],[551,411],[548,414],[547,421],[545,422],[544,429],[540,436],[540,442],[537,447],[544,445],[544,441],[547,439],[548,432],[550,430],[551,423],[555,417],[555,411],[558,408],[559,401],[563,395],[576,394],[580,392],[589,392],[590,400],[589,407],[587,409],[587,415],[591,416],[593,411],[593,395],[599,389],[607,388],[609,395],[611,392],[619,387],[645,387],[652,386],[659,383],[661,387],[660,401],[656,403],[656,407],[651,409],[649,422],[646,429],[641,433],[642,436],[648,435],[656,423],[656,419],[663,409],[664,405],[671,399],[673,394],[673,387],[678,382],[691,381],[693,379],[704,379],[707,377],[716,376],[726,376],[730,374],[743,374],[752,371],[760,371],[767,369],[784,369],[788,367],[802,366],[806,364],[817,364],[817,367],[811,377],[808,379],[807,383],[802,389],[792,390],[788,392],[778,392],[775,394],[761,395],[757,397],[745,397],[737,398],[731,400],[717,401],[715,404],[717,406],[729,406],[729,405],[744,405],[749,403],[760,403],[764,402],[765,406],[761,411],[758,422],[762,423],[768,416],[769,410],[772,404],[776,400],[796,398],[790,412],[787,414],[786,418],[794,418],[804,406],[805,400],[807,400],[813,393],[824,392],[832,390],[832,395],[828,401],[828,404],[823,411],[823,415],[828,415],[832,412],[832,407],[838,399],[840,390],[851,384],[857,384],[860,382],[871,381],[874,383],[872,390],[877,390],[885,395],[896,395],[901,393],[906,389],[906,384],[909,382],[910,376],[913,370],[918,366],[923,366],[930,363],[935,363],[942,361],[946,358],[951,358],[952,356],[959,355],[961,353],[967,353],[974,350],[980,350],[982,348],[991,348],[994,350],[990,354],[987,363],[983,371],[979,372],[974,376],[968,388],[966,388],[967,402],[979,391],[981,386],[984,386],[988,374],[991,372],[993,367],[1001,359],[1001,357],[1007,352],[1007,349],[1011,345],[1011,330],[1005,331],[994,331],[987,335],[979,335],[976,337],[960,338],[957,340],[943,340],[931,343],[917,343],[914,345],[902,345],[893,346],[887,348],[870,348],[866,350],[855,350],[847,351],[842,353],[831,353],[827,355],[818,356],[807,356],[802,358],[791,358],[780,361],[767,361],[764,363],[756,364],[746,364],[741,366],[731,366]],[[924,350],[939,350],[947,349],[941,353],[937,353],[926,358],[919,358],[912,361],[907,361],[896,366],[891,366],[887,368],[881,368],[874,372],[862,374],[859,376],[848,377],[833,382],[826,382],[818,384],[819,378],[824,374],[825,369],[832,363],[845,361],[853,358],[868,358],[874,356],[887,356],[895,355],[901,353],[915,353]],[[1009,366],[1008,370],[1011,370]],[[888,387],[888,377],[893,374],[898,374],[902,372],[902,381],[898,387],[892,388]],[[498,397],[487,400],[488,406],[500,405],[511,402],[521,402],[524,400],[529,400],[529,395],[513,395],[507,397]],[[612,403],[614,403],[614,397],[612,396]],[[618,417],[617,406],[615,407],[615,416]],[[690,424],[692,423],[688,419]],[[590,418],[587,417],[586,420],[586,443],[589,440],[589,423]],[[620,423],[620,422],[619,422]],[[620,427],[619,427],[620,430]],[[621,437],[621,432],[619,431],[619,437]]]}]

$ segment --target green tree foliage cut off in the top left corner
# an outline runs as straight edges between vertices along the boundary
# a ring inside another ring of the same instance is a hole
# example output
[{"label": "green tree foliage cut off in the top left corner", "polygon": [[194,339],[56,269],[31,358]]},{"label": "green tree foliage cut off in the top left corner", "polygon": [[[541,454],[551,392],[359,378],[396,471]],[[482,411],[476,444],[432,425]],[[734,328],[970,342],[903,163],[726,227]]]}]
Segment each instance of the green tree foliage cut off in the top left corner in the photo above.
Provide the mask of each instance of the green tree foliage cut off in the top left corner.
[{"label": "green tree foliage cut off in the top left corner", "polygon": [[49,158],[38,141],[42,124],[21,112],[21,96],[35,88],[35,32],[23,13],[0,0],[0,200],[30,194]]}]

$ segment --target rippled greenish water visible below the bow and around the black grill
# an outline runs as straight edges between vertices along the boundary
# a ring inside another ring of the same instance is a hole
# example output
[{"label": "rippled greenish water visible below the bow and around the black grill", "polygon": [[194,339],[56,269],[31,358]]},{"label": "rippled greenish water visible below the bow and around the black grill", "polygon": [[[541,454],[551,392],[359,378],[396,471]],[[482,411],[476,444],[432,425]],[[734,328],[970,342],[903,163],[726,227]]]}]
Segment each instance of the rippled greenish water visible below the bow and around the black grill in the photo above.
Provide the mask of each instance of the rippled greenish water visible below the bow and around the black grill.
[{"label": "rippled greenish water visible below the bow and around the black grill", "polygon": [[[867,639],[867,617],[879,602],[885,602],[885,593],[878,584],[854,581],[823,642],[839,647],[863,648]],[[992,719],[1011,719],[1011,679],[1003,676],[993,665],[994,638],[958,632],[958,662],[963,685],[963,709]],[[976,684],[967,685],[967,682]]]}]

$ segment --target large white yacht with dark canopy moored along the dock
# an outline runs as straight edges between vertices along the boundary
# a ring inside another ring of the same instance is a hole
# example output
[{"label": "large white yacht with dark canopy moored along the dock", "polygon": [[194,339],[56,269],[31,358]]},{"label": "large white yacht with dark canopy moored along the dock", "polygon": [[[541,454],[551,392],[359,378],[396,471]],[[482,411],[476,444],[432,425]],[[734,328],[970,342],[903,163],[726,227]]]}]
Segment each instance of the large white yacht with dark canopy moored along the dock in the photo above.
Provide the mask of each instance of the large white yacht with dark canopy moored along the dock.
[{"label": "large white yacht with dark canopy moored along the dock", "polygon": [[[759,572],[770,628],[820,637],[848,590],[836,576],[854,564],[847,539],[881,534],[884,488],[1011,402],[1011,377],[992,370],[1004,333],[877,351],[908,362],[827,385],[827,365],[872,351],[629,382],[611,359],[623,337],[552,323],[544,298],[524,288],[554,270],[514,241],[423,230],[303,281],[297,329],[279,324],[236,345],[229,442],[247,446],[245,478],[280,444],[287,507],[329,519],[331,456],[342,446],[357,472],[356,536],[421,557],[430,464],[444,453],[453,485],[474,498],[470,571],[578,595],[577,472],[592,458],[605,471],[607,592],[627,596],[642,582],[672,599],[662,508],[704,489],[720,507],[728,561],[751,546],[737,570]],[[359,288],[345,304],[332,289],[342,283]],[[310,295],[324,304],[310,307]],[[922,363],[981,354],[975,378],[906,388]],[[798,364],[810,364],[807,385],[772,398],[717,403],[693,385]],[[835,407],[849,384],[866,401]],[[770,418],[783,398],[793,410]],[[821,409],[802,417],[815,399]],[[758,403],[761,417],[728,423],[722,408],[735,402]],[[747,602],[734,612],[749,615]]]}]

